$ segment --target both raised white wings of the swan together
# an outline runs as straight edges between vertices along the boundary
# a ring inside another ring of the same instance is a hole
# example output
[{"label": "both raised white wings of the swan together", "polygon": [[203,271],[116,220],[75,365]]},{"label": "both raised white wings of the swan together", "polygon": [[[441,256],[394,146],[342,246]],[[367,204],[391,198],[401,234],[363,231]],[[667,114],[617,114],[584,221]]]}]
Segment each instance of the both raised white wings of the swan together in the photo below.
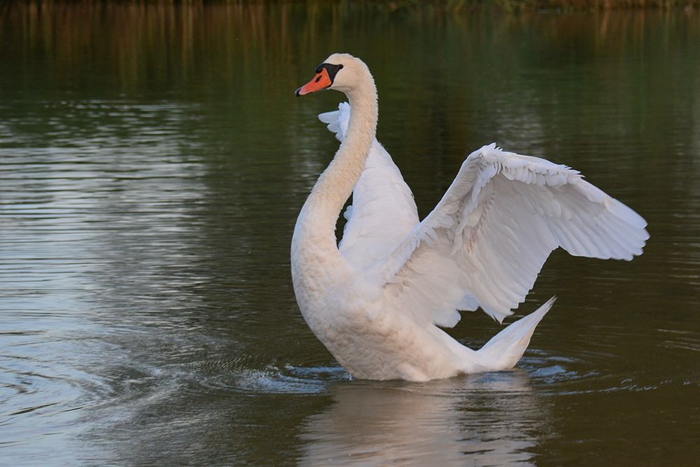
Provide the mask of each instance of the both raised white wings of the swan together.
[{"label": "both raised white wings of the swan together", "polygon": [[[318,118],[343,141],[350,106]],[[631,260],[649,238],[635,211],[548,160],[501,151],[470,154],[419,223],[412,194],[376,140],[344,216],[340,251],[376,274],[421,323],[454,326],[481,306],[498,321],[532,288],[549,253]]]}]

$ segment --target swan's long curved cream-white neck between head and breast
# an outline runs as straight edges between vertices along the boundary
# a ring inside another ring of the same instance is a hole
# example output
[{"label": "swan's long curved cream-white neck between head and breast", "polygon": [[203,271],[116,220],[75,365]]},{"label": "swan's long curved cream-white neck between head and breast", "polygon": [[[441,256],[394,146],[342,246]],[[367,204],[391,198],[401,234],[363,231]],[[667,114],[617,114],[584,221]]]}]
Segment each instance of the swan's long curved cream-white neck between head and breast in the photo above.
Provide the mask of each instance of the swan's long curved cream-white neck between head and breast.
[{"label": "swan's long curved cream-white neck between head and breast", "polygon": [[[335,239],[335,224],[365,168],[378,117],[377,88],[371,75],[367,74],[363,83],[346,95],[351,108],[346,139],[318,177],[297,218],[292,238],[293,263],[317,258],[329,267],[344,265]],[[298,272],[295,269],[293,273]]]}]

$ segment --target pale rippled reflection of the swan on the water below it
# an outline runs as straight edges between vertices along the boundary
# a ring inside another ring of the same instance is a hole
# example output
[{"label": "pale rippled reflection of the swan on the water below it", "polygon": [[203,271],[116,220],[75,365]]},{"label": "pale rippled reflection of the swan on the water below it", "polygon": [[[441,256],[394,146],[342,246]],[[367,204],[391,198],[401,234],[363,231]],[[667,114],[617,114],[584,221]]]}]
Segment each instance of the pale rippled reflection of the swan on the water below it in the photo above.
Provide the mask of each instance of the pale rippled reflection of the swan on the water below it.
[{"label": "pale rippled reflection of the swan on the water below it", "polygon": [[528,465],[540,417],[521,371],[426,384],[341,383],[302,427],[306,466]]}]

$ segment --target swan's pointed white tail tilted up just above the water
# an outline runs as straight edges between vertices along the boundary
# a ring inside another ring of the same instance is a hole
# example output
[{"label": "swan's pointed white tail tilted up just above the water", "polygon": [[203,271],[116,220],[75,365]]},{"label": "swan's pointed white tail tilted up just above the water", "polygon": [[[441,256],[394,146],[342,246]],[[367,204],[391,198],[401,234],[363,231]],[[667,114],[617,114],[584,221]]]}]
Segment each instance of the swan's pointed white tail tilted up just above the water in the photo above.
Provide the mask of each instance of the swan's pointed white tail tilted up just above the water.
[{"label": "swan's pointed white tail tilted up just above the water", "polygon": [[500,333],[491,337],[484,347],[477,351],[483,358],[482,365],[492,371],[512,368],[525,353],[535,327],[552,307],[556,297],[552,297],[535,312],[515,321]]}]

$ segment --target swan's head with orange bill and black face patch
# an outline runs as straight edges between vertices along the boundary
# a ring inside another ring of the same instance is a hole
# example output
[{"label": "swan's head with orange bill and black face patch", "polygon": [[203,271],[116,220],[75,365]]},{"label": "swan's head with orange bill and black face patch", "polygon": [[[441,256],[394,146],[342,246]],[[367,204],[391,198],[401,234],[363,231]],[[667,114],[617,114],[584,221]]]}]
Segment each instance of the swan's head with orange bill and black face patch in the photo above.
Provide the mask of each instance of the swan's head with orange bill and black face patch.
[{"label": "swan's head with orange bill and black face patch", "polygon": [[297,97],[324,89],[335,89],[346,94],[372,81],[370,69],[365,62],[349,53],[334,53],[316,67],[316,76],[297,89]]}]

